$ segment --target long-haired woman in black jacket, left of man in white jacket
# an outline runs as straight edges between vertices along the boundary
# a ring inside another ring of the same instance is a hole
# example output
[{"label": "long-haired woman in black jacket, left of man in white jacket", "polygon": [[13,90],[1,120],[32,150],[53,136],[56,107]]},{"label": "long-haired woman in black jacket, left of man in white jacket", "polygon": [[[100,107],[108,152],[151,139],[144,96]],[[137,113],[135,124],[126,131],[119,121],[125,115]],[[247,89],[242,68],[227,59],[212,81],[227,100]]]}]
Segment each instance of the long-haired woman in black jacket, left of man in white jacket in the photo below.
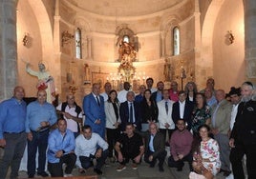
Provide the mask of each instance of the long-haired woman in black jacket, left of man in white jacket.
[{"label": "long-haired woman in black jacket, left of man in white jacket", "polygon": [[151,90],[144,91],[144,97],[141,101],[141,131],[146,131],[149,128],[149,123],[158,122],[159,109],[156,102],[151,98]]}]

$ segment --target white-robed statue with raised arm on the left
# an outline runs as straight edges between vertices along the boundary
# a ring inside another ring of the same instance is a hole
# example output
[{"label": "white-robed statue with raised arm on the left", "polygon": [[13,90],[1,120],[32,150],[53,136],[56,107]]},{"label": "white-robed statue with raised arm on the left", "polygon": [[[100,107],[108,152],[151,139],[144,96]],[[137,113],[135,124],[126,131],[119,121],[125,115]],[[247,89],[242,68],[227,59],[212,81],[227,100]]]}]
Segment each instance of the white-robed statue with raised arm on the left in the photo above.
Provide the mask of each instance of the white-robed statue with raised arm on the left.
[{"label": "white-robed statue with raised arm on the left", "polygon": [[45,65],[42,62],[38,63],[39,71],[32,70],[30,68],[31,64],[26,63],[26,71],[30,73],[32,76],[36,76],[38,78],[38,83],[36,88],[44,89],[47,92],[47,102],[53,103],[55,100],[55,87],[53,82],[53,77],[46,70]]}]

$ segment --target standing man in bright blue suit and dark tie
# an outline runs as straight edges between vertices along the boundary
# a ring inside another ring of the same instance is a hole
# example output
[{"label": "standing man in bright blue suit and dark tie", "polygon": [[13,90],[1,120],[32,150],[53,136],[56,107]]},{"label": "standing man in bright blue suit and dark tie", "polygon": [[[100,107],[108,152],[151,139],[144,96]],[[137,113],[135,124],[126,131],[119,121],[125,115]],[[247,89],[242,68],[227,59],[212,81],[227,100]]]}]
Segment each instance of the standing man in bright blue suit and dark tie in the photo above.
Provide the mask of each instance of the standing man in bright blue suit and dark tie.
[{"label": "standing man in bright blue suit and dark tie", "polygon": [[92,127],[93,132],[105,138],[106,115],[104,99],[99,95],[100,85],[93,84],[93,91],[83,99],[83,111],[85,113],[85,125]]}]

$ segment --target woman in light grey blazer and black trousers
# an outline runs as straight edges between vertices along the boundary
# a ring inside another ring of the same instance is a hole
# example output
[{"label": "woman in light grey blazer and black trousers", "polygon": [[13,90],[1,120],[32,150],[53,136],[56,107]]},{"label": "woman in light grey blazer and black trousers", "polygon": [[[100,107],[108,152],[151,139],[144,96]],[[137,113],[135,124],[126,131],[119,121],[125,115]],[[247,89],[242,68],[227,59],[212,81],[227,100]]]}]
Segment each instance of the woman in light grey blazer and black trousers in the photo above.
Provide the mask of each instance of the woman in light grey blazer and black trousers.
[{"label": "woman in light grey blazer and black trousers", "polygon": [[109,92],[109,99],[105,102],[107,142],[109,144],[109,158],[111,162],[116,161],[113,155],[113,151],[117,138],[120,134],[118,129],[118,126],[121,123],[119,106],[120,104],[117,99],[117,91],[111,90]]}]

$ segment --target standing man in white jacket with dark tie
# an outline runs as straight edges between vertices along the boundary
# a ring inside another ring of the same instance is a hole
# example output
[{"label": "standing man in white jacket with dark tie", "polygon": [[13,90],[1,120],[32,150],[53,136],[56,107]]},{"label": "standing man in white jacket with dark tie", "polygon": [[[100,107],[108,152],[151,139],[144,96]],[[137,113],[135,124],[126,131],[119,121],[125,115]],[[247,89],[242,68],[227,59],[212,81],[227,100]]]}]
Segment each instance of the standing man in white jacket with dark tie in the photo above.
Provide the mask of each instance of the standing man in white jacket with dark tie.
[{"label": "standing man in white jacket with dark tie", "polygon": [[171,137],[172,132],[175,129],[175,124],[172,119],[172,110],[174,101],[169,99],[169,90],[164,89],[162,91],[163,99],[158,102],[159,108],[159,125],[160,125],[160,132],[164,136],[164,140],[166,141],[166,130],[168,131],[168,139]]}]

